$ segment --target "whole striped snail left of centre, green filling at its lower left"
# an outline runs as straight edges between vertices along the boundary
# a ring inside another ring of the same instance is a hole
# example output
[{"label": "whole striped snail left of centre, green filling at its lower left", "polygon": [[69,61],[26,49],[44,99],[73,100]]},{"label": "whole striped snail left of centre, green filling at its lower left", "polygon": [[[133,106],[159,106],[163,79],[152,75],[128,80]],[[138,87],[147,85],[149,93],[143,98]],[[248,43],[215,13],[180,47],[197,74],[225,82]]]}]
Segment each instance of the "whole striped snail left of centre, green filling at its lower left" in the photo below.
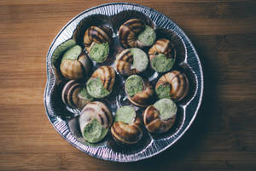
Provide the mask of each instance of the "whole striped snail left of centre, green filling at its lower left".
[{"label": "whole striped snail left of centre, green filling at its lower left", "polygon": [[115,71],[111,66],[101,66],[93,72],[86,83],[88,93],[95,98],[111,94],[115,81]]}]

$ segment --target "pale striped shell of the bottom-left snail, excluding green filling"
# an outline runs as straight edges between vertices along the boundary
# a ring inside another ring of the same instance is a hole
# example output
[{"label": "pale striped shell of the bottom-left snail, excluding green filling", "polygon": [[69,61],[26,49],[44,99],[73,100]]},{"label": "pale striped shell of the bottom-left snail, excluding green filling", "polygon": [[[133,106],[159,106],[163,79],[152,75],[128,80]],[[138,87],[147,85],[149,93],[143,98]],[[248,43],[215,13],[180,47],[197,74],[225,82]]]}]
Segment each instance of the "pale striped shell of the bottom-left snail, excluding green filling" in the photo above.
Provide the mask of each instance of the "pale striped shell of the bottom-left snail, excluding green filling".
[{"label": "pale striped shell of the bottom-left snail, excluding green filling", "polygon": [[91,119],[96,119],[98,123],[102,124],[103,128],[110,128],[113,123],[113,116],[111,112],[108,110],[108,107],[100,101],[90,102],[85,105],[82,110],[82,114],[84,113],[89,116],[88,123]]}]

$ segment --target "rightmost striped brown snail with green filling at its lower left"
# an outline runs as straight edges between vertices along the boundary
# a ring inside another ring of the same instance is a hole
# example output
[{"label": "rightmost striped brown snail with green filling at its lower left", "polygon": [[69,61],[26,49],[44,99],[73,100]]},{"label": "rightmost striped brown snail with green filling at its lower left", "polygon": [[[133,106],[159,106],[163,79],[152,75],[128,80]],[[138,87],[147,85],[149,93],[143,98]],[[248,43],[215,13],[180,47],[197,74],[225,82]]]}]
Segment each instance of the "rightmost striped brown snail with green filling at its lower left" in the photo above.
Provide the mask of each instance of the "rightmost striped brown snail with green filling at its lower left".
[{"label": "rightmost striped brown snail with green filling at its lower left", "polygon": [[174,101],[183,100],[189,92],[188,77],[180,71],[170,71],[160,77],[155,85],[159,99],[168,98]]}]

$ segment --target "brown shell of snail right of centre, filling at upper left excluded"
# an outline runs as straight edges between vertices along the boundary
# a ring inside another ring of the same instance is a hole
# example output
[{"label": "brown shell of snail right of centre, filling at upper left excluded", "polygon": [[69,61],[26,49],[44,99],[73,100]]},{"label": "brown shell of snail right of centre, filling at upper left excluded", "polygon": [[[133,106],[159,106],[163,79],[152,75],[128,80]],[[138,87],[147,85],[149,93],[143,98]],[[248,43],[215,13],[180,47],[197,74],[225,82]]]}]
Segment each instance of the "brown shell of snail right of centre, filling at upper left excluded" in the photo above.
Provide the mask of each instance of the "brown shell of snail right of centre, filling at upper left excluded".
[{"label": "brown shell of snail right of centre, filling at upper left excluded", "polygon": [[[125,88],[125,93],[127,94],[126,88]],[[154,96],[154,89],[151,83],[143,80],[143,91],[137,92],[137,94],[133,95],[132,97],[129,94],[127,95],[128,95],[128,100],[130,100],[133,105],[145,107],[152,102],[153,96]]]}]

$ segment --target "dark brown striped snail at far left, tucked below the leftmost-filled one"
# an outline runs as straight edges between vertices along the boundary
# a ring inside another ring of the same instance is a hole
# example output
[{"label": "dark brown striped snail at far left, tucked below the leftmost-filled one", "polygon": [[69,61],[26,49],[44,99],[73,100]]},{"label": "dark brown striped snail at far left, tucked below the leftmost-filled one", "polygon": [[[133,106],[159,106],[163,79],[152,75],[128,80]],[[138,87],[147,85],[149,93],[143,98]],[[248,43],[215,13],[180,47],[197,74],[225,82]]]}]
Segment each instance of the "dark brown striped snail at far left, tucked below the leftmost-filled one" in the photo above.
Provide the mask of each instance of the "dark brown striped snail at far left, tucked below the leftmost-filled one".
[{"label": "dark brown striped snail at far left, tucked below the leftmost-filled one", "polygon": [[82,83],[75,80],[71,80],[65,84],[62,89],[61,98],[65,105],[78,109],[83,109],[84,105],[93,100]]}]

